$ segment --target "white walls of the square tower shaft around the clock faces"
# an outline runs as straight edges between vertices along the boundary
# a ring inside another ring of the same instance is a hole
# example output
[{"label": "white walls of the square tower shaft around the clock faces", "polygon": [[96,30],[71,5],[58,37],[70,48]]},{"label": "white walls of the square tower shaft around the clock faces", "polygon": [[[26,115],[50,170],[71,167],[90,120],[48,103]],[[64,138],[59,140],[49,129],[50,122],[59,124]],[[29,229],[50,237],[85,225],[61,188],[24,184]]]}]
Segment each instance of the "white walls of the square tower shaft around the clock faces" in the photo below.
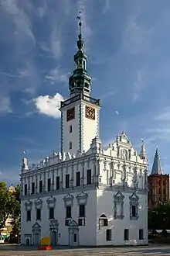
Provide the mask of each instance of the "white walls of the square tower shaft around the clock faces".
[{"label": "white walls of the square tower shaft around the clock faces", "polygon": [[[73,99],[74,98],[77,99],[76,102],[70,103],[69,99],[68,101],[65,101],[66,103],[60,109],[61,151],[70,152],[70,154],[75,154],[78,150],[80,152],[87,152],[90,148],[92,139],[94,137],[99,137],[100,106],[93,104],[88,96],[83,96],[83,99],[79,96],[75,96]],[[84,100],[84,98],[86,100]],[[96,117],[94,120],[86,118],[86,106],[95,109]],[[73,108],[75,118],[67,121],[67,111]],[[72,147],[70,147],[70,144]]]}]

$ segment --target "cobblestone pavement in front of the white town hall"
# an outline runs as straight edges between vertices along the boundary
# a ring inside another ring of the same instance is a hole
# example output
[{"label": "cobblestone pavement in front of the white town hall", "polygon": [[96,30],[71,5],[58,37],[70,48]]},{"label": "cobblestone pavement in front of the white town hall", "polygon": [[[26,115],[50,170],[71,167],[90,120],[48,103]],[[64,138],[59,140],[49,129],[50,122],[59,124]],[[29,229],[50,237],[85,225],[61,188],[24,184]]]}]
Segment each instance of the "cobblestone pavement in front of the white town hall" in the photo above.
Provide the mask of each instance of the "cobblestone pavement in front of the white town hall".
[{"label": "cobblestone pavement in front of the white town hall", "polygon": [[149,245],[146,247],[102,247],[102,248],[59,248],[53,251],[39,251],[35,247],[21,247],[14,245],[0,245],[0,255],[3,256],[23,256],[23,255],[57,255],[57,256],[111,256],[111,255],[138,255],[138,256],[166,256],[170,255],[170,246]]}]

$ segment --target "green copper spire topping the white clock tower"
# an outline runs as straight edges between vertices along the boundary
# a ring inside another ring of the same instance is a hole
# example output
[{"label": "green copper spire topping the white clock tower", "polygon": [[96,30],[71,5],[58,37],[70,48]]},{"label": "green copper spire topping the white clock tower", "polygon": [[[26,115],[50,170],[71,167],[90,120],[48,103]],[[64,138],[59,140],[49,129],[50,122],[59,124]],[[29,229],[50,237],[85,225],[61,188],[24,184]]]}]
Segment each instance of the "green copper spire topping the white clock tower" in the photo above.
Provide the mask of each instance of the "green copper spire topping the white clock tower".
[{"label": "green copper spire topping the white clock tower", "polygon": [[69,79],[71,97],[79,95],[80,93],[90,96],[91,91],[91,78],[87,74],[87,56],[83,53],[84,42],[82,36],[82,21],[80,15],[81,12],[79,12],[79,16],[76,17],[76,19],[79,20],[79,34],[78,40],[76,42],[78,50],[74,55],[75,69]]}]

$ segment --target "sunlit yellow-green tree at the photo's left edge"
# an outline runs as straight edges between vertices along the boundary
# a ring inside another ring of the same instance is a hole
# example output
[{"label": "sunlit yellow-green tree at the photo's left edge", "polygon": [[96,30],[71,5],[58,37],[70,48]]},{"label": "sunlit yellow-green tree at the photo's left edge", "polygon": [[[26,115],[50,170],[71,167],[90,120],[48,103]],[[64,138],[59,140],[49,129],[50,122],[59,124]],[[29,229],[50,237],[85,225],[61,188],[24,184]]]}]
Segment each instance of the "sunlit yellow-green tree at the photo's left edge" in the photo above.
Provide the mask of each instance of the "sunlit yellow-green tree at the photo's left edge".
[{"label": "sunlit yellow-green tree at the photo's left edge", "polygon": [[5,226],[5,221],[11,213],[11,193],[8,192],[5,182],[0,182],[0,228]]}]

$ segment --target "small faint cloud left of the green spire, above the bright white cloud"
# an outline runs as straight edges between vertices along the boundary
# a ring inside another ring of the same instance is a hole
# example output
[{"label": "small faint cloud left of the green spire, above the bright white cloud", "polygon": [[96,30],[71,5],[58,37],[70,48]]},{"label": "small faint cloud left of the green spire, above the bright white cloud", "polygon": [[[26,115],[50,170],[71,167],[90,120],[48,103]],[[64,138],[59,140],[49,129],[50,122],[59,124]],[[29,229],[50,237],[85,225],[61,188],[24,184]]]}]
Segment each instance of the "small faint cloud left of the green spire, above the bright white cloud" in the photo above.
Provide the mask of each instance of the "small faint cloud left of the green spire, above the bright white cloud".
[{"label": "small faint cloud left of the green spire, above the bright white cloud", "polygon": [[68,81],[68,76],[67,74],[63,74],[61,69],[58,67],[54,68],[49,72],[49,74],[46,74],[46,79],[51,81],[52,84],[56,81],[62,81],[62,82],[67,82]]}]

